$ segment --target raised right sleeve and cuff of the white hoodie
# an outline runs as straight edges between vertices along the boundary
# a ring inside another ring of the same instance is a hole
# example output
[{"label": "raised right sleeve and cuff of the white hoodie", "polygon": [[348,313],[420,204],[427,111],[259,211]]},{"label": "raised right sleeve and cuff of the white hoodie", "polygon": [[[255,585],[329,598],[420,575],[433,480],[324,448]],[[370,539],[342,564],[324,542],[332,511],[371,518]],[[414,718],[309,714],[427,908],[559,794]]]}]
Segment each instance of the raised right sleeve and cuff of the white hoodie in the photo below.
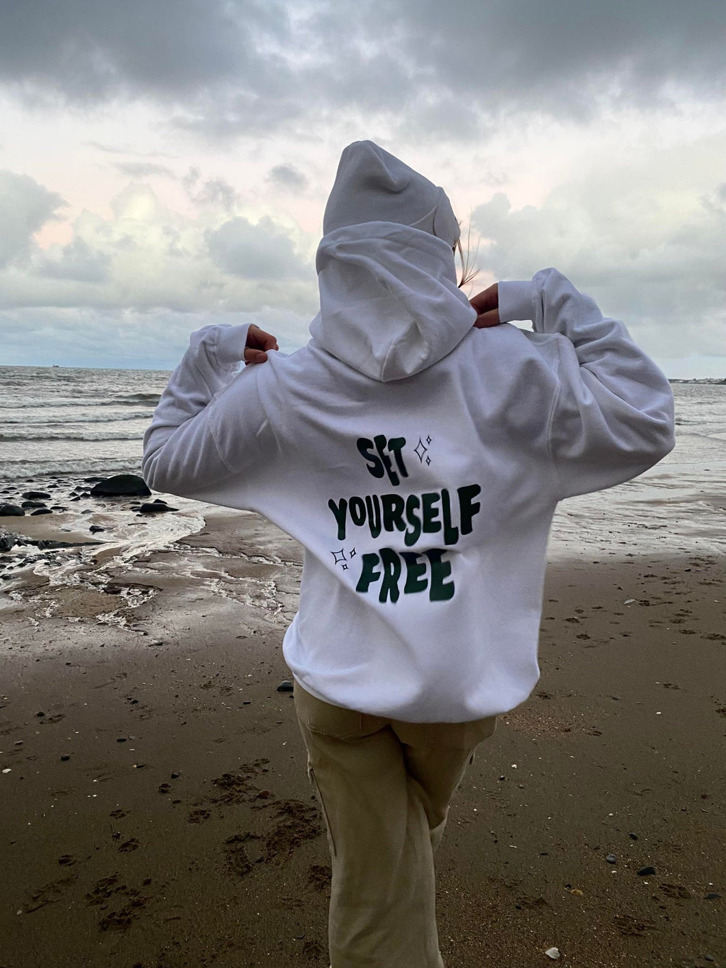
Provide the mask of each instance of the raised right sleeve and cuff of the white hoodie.
[{"label": "raised right sleeve and cuff of the white hoodie", "polygon": [[542,269],[531,282],[499,283],[499,318],[530,319],[535,332],[560,337],[549,416],[559,499],[637,477],[673,449],[668,379],[621,322],[603,317],[560,272]]}]

